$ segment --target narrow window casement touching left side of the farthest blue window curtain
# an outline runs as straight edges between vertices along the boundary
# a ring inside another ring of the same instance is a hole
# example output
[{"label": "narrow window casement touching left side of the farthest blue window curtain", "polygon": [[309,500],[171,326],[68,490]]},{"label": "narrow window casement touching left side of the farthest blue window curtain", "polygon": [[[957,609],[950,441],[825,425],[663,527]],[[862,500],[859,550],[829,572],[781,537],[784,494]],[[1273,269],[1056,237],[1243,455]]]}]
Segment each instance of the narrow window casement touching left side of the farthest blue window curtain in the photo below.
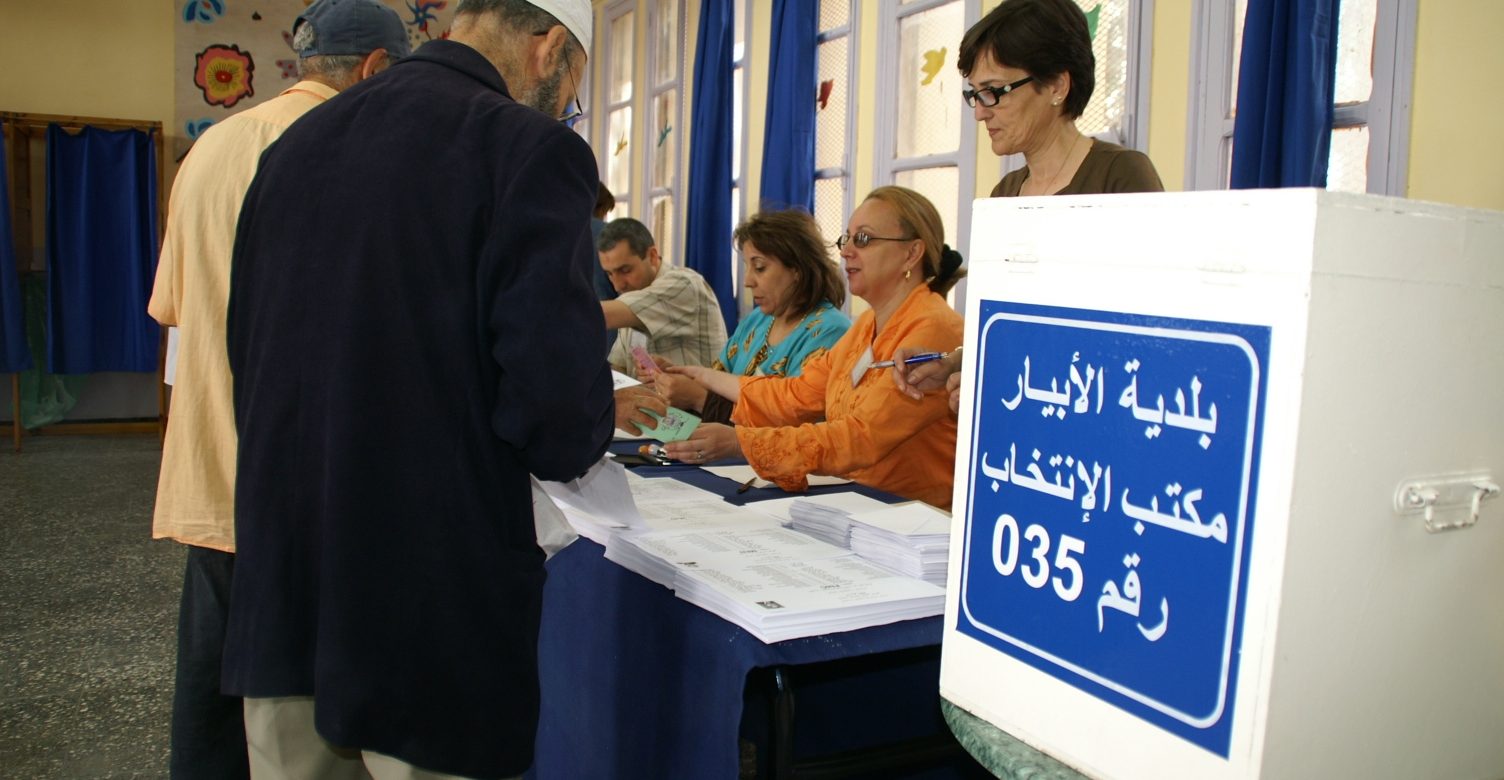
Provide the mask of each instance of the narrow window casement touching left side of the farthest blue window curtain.
[{"label": "narrow window casement touching left side of the farthest blue window curtain", "polygon": [[680,84],[684,75],[683,48],[683,0],[653,0],[648,11],[648,29],[653,30],[653,48],[648,50],[648,72],[653,74],[648,90],[648,143],[647,143],[647,201],[648,230],[657,240],[659,252],[669,263],[683,265],[678,257],[678,138],[681,131]]}]

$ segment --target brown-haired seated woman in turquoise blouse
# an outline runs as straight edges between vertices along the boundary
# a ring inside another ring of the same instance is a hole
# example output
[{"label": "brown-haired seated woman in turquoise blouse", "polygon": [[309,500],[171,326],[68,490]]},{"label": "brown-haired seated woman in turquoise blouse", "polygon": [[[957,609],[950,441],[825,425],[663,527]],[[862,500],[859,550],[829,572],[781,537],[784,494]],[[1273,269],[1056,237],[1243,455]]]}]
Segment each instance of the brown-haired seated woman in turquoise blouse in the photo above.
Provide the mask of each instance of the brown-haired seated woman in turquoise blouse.
[{"label": "brown-haired seated woman in turquoise blouse", "polygon": [[731,421],[737,377],[799,376],[805,361],[830,349],[851,326],[839,308],[845,286],[812,216],[763,212],[741,222],[734,237],[746,263],[752,311],[710,368],[672,367],[657,379],[669,404],[707,422]]}]

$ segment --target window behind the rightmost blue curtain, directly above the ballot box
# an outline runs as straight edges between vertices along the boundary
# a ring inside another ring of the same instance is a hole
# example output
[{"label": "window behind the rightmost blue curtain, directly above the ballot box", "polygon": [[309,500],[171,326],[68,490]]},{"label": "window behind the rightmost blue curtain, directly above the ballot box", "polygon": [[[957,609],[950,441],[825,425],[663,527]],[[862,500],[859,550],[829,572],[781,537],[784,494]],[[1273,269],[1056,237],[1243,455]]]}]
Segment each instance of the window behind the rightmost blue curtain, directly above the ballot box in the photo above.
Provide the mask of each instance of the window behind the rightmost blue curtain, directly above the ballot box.
[{"label": "window behind the rightmost blue curtain, directly above the ballot box", "polygon": [[[1415,0],[1343,0],[1327,188],[1405,194]],[[1197,8],[1187,188],[1226,188],[1247,0]]]}]

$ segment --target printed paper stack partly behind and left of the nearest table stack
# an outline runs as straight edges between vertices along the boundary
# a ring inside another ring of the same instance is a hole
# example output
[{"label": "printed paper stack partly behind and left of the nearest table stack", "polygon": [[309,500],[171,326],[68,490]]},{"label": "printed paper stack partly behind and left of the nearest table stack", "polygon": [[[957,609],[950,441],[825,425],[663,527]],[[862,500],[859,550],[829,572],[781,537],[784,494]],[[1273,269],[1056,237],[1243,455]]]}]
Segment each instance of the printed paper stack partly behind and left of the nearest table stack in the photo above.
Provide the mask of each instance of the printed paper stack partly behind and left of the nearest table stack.
[{"label": "printed paper stack partly behind and left of the nearest table stack", "polygon": [[606,544],[606,559],[672,588],[675,574],[683,570],[850,555],[770,520],[764,522],[764,526],[617,534]]}]

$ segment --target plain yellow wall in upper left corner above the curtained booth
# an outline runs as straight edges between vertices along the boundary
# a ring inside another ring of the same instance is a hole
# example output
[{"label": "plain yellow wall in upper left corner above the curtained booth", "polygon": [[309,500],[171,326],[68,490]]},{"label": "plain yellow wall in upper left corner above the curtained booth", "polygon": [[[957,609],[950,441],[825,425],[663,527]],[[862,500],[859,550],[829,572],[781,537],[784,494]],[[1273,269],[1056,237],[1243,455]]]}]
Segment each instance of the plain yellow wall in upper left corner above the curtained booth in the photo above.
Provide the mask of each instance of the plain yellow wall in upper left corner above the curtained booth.
[{"label": "plain yellow wall in upper left corner above the curtained booth", "polygon": [[171,134],[173,0],[24,5],[0,23],[0,111],[158,120]]}]

